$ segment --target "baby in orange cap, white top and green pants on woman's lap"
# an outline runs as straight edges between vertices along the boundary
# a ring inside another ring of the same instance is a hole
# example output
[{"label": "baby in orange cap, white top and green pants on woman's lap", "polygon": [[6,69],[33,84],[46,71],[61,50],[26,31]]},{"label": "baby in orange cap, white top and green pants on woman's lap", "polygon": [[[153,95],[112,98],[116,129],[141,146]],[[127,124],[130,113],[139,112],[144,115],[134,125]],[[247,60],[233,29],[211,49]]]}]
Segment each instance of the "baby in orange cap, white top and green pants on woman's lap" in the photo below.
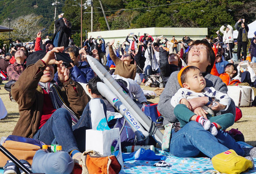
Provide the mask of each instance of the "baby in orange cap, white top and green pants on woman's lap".
[{"label": "baby in orange cap, white top and green pants on woman's lap", "polygon": [[205,78],[199,68],[184,67],[177,74],[177,80],[181,88],[172,97],[171,105],[175,107],[174,114],[180,122],[180,127],[185,126],[189,121],[196,121],[215,136],[217,130],[226,130],[234,124],[234,115],[231,113],[214,116],[214,113],[212,115],[208,112],[207,117],[193,113],[192,106],[188,102],[191,98],[208,97],[208,102],[203,103],[202,107],[213,111],[225,111],[231,102],[227,94],[218,92],[213,87],[205,88]]}]

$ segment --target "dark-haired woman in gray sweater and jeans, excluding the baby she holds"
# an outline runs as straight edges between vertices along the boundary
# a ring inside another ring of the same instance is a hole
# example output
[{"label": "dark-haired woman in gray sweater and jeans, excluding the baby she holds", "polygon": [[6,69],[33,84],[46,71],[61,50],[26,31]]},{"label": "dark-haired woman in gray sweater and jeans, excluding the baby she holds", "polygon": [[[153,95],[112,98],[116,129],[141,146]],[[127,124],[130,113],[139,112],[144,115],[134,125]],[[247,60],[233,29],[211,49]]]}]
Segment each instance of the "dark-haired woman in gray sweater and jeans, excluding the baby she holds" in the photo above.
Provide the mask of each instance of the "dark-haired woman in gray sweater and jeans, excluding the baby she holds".
[{"label": "dark-haired woman in gray sweater and jeans, excluding the baby she holds", "polygon": [[[215,55],[207,41],[196,40],[189,48],[186,61],[188,65],[200,69],[202,76],[205,78],[205,87],[213,87],[218,92],[227,93],[228,89],[221,79],[210,74],[214,65]],[[179,122],[174,114],[175,107],[171,105],[172,97],[181,88],[177,79],[178,73],[179,71],[176,71],[171,74],[158,103],[158,110],[164,116],[164,125]],[[188,100],[188,102],[191,106],[191,111],[196,116],[200,115],[207,118],[208,113],[203,109],[203,106],[210,102],[208,97],[196,97]],[[225,113],[236,115],[236,106],[233,101],[230,102],[227,109],[225,108],[225,105],[218,103],[217,109],[214,111],[217,113],[221,110],[217,115]],[[217,135],[214,136],[196,121],[187,122],[181,129],[179,126],[175,126],[175,131],[172,130],[170,152],[175,156],[195,157],[203,153],[209,158],[213,158],[213,156],[230,149],[236,151],[238,155],[245,156],[245,152],[240,145],[222,130],[218,130]]]}]

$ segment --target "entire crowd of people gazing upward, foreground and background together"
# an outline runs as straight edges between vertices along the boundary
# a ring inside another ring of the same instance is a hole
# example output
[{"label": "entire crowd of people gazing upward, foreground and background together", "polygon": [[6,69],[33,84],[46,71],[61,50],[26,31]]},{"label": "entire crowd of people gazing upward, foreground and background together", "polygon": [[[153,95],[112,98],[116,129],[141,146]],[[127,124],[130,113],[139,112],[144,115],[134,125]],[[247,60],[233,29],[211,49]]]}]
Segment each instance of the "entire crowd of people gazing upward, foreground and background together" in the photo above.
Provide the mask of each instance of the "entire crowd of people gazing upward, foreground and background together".
[{"label": "entire crowd of people gazing upward, foreground and background together", "polygon": [[[224,131],[233,125],[236,116],[236,106],[226,94],[227,86],[256,87],[249,61],[247,71],[241,71],[249,40],[245,19],[234,26],[237,40],[233,39],[233,27],[224,24],[217,38],[192,40],[184,36],[178,41],[175,36],[168,40],[130,33],[122,44],[90,36],[82,48],[70,39],[71,22],[59,15],[55,25],[51,40],[42,40],[39,31],[34,48],[28,50],[16,40],[10,52],[2,51],[0,68],[9,81],[14,81],[10,98],[19,105],[20,118],[13,135],[46,144],[55,140],[73,159],[81,157],[85,130],[92,129],[90,101],[100,98],[106,105],[106,120],[107,111],[116,111],[97,90],[101,80],[88,64],[89,55],[104,65],[140,107],[147,100],[137,82],[148,81],[152,74],[162,78],[165,88],[158,110],[164,117],[163,125],[175,123],[170,141],[170,152],[175,156],[203,153],[213,158],[232,149],[240,156],[256,157],[255,148],[248,154]],[[256,62],[255,35],[249,48],[252,63]],[[67,57],[70,61],[64,64]]]}]

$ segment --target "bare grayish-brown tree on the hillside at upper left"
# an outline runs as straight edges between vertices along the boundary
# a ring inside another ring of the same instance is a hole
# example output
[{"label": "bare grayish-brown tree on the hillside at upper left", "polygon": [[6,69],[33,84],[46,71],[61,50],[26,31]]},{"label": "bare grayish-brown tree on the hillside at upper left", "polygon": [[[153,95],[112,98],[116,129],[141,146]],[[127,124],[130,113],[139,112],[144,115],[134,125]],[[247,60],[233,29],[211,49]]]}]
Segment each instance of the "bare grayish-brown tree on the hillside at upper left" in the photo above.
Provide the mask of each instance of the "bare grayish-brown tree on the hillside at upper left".
[{"label": "bare grayish-brown tree on the hillside at upper left", "polygon": [[[31,42],[36,38],[38,31],[42,30],[42,27],[39,26],[41,18],[42,16],[30,14],[12,20],[11,28],[14,30],[11,32],[11,38],[20,39],[22,42]],[[9,26],[8,20],[5,19],[2,25]],[[9,33],[5,32],[2,35],[9,35]]]}]

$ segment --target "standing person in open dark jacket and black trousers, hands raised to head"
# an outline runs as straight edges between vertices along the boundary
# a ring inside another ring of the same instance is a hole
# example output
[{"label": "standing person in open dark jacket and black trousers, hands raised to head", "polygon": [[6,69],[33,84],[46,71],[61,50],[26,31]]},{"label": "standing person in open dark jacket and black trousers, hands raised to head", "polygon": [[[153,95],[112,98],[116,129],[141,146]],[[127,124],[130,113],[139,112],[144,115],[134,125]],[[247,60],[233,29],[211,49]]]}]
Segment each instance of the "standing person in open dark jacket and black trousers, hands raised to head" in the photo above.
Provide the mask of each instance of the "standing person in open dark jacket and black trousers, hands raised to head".
[{"label": "standing person in open dark jacket and black trousers, hands raised to head", "polygon": [[[238,24],[241,22],[241,27],[238,27]],[[243,47],[243,59],[246,60],[247,56],[247,42],[248,42],[248,32],[249,27],[245,23],[245,19],[239,19],[235,24],[235,28],[238,31],[237,36],[237,58],[240,59],[241,48]]]}]

